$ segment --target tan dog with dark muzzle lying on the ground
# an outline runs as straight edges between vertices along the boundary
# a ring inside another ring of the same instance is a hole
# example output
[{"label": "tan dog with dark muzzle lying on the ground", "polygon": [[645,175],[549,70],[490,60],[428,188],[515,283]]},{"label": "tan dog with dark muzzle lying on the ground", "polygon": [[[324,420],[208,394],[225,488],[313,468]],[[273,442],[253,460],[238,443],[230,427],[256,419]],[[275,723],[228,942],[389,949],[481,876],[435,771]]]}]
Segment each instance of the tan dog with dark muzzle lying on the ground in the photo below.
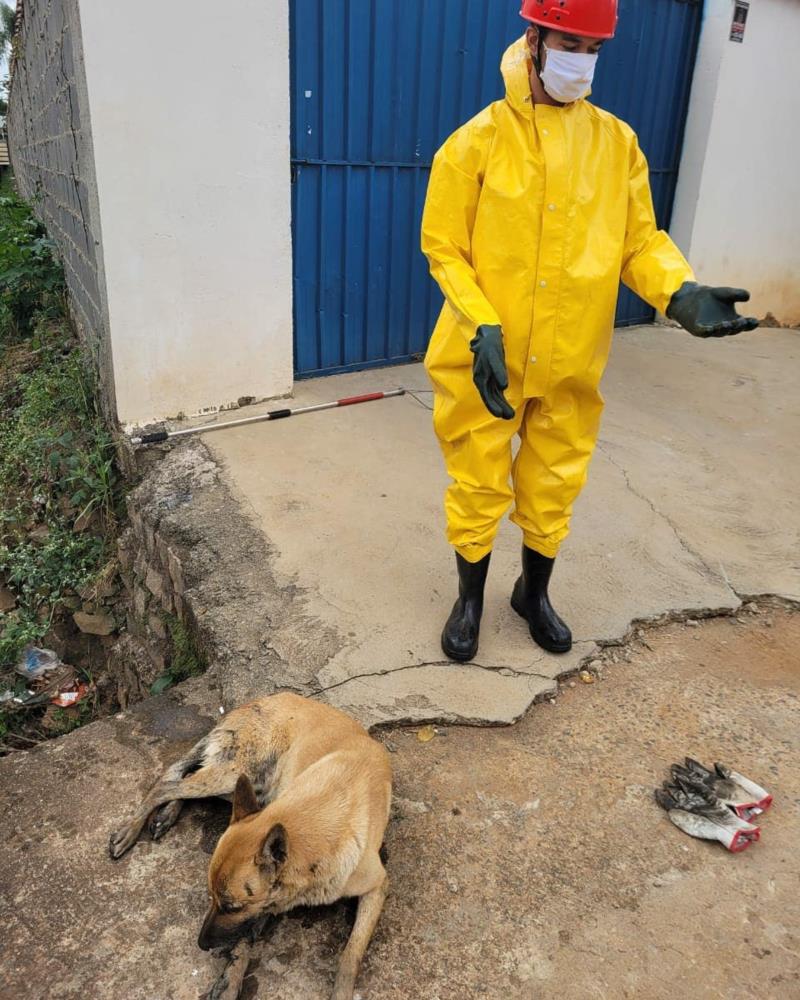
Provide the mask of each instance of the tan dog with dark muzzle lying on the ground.
[{"label": "tan dog with dark muzzle lying on the ground", "polygon": [[332,994],[352,1000],[386,898],[378,852],[391,794],[389,755],[357,722],[278,694],[231,712],[167,768],[109,849],[122,857],[145,825],[158,840],[188,799],[232,798],[230,826],[211,858],[211,905],[198,944],[235,947],[210,995],[238,995],[250,948],[271,915],[358,896]]}]

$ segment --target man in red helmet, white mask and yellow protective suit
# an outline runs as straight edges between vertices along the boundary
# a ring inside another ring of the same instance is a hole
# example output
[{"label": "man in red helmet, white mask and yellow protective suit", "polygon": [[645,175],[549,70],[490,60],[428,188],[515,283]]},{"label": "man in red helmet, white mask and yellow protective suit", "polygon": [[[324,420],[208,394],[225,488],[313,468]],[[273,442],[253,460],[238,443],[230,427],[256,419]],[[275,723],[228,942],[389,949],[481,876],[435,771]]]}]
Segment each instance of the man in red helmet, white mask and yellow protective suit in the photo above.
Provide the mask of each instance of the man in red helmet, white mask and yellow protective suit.
[{"label": "man in red helmet, white mask and yellow protective suit", "polygon": [[453,480],[459,596],[442,648],[458,661],[477,652],[512,501],[524,540],[512,606],[544,649],[571,648],[548,583],[597,441],[620,278],[695,336],[758,325],[736,312],[746,291],[695,282],[656,227],[636,135],[585,100],[616,0],[524,0],[522,16],[531,26],[503,57],[505,99],[439,150],[422,223],[446,300],[425,365]]}]

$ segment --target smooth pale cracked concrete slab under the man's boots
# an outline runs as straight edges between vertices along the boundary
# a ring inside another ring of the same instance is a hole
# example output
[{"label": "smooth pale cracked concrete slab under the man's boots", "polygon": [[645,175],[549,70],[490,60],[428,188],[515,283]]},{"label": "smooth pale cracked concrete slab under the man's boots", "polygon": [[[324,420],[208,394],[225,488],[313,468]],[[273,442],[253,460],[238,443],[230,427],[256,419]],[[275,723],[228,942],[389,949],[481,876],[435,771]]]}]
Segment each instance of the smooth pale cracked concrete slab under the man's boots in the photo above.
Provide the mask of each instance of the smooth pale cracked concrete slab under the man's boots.
[{"label": "smooth pale cracked concrete slab under the man's boots", "polygon": [[[601,444],[552,587],[579,643],[563,658],[531,643],[508,603],[520,538],[505,523],[480,666],[466,674],[437,665],[455,574],[422,367],[299,383],[299,405],[397,386],[417,398],[204,439],[268,539],[271,579],[293,594],[292,627],[273,622],[271,647],[284,662],[302,647],[318,665],[312,686],[363,721],[510,722],[545,690],[532,679],[573,671],[632,621],[734,609],[740,594],[800,597],[799,346],[791,330],[713,342],[666,327],[619,331]],[[317,635],[324,657],[308,653]],[[511,672],[502,682],[499,668]]]}]

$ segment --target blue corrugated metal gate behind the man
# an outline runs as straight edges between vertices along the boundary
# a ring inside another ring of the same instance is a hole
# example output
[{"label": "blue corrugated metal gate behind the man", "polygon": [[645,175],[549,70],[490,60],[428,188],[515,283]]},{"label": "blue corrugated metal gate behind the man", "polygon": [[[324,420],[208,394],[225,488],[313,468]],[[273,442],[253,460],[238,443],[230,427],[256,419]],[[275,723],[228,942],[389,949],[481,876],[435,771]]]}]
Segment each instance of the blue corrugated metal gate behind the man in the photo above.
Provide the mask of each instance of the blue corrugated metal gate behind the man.
[{"label": "blue corrugated metal gate behind the man", "polygon": [[[295,368],[408,361],[441,296],[419,250],[433,154],[503,93],[519,0],[291,0]],[[628,121],[669,224],[699,0],[622,0],[592,100]],[[623,290],[620,325],[652,310]]]}]

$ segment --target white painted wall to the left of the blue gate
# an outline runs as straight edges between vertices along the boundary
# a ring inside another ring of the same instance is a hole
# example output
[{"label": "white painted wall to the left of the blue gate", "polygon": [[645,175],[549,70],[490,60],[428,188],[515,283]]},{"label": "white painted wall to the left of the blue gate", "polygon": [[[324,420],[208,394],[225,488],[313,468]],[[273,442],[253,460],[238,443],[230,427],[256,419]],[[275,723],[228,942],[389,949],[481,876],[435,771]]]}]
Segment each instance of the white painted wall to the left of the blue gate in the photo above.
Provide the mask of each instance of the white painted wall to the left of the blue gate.
[{"label": "white painted wall to the left of the blue gate", "polygon": [[287,0],[80,0],[125,426],[292,385]]}]

